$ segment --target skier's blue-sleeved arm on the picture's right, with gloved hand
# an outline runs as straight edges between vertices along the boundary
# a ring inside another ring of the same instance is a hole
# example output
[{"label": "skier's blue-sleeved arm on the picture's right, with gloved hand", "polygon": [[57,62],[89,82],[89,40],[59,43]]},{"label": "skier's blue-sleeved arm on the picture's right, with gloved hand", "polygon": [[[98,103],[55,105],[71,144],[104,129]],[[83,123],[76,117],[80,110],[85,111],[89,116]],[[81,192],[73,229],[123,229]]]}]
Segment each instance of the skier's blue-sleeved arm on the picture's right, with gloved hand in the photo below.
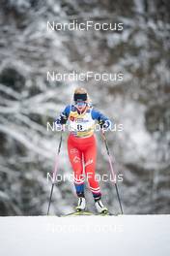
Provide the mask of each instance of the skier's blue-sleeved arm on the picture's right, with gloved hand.
[{"label": "skier's blue-sleeved arm on the picture's right, with gloved hand", "polygon": [[110,119],[96,109],[92,110],[92,118],[98,120],[99,125],[104,129],[109,129],[111,127]]}]

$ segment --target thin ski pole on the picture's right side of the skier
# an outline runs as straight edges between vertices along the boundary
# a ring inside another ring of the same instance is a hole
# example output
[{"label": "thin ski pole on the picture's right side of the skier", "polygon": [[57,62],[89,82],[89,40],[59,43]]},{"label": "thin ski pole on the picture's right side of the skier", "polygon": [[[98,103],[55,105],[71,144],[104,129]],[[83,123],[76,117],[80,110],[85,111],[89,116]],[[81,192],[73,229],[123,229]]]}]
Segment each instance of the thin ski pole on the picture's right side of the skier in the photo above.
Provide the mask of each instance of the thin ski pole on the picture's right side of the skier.
[{"label": "thin ski pole on the picture's right side of the skier", "polygon": [[[106,148],[106,151],[107,151],[108,161],[109,161],[109,165],[110,165],[110,170],[111,170],[112,176],[115,177],[115,173],[113,171],[113,164],[112,164],[112,161],[111,161],[111,155],[110,155],[109,147],[108,147],[108,144],[107,144],[107,139],[106,139],[106,136],[105,136],[105,133],[104,133],[103,129],[101,129],[101,136],[102,136],[102,139],[104,141],[105,148]],[[119,195],[119,190],[118,190],[118,185],[117,185],[116,181],[114,181],[114,184],[115,184],[115,188],[116,188],[116,193],[117,193],[119,205],[120,205],[120,208],[121,208],[121,213],[123,214],[124,212],[123,212],[123,208],[122,208],[122,204],[121,204],[121,199],[120,199],[120,195]]]}]

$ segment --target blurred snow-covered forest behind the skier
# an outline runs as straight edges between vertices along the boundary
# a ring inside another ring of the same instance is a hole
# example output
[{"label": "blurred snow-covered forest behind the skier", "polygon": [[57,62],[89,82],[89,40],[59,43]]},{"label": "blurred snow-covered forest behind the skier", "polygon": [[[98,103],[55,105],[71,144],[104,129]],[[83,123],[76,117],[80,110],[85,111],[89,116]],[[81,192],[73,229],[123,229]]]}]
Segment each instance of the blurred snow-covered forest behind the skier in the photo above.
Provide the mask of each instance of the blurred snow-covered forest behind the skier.
[{"label": "blurred snow-covered forest behind the skier", "polygon": [[[170,213],[170,1],[0,0],[0,215],[45,214],[59,133],[46,122],[86,87],[95,106],[124,132],[109,132],[125,213]],[[123,32],[47,32],[46,21],[123,22]],[[124,72],[124,81],[48,82],[46,71]],[[60,174],[71,173],[64,136]],[[109,174],[99,144],[98,173]],[[103,202],[118,210],[112,183]],[[89,207],[93,199],[86,191]],[[52,214],[76,204],[73,184],[54,189]]]}]

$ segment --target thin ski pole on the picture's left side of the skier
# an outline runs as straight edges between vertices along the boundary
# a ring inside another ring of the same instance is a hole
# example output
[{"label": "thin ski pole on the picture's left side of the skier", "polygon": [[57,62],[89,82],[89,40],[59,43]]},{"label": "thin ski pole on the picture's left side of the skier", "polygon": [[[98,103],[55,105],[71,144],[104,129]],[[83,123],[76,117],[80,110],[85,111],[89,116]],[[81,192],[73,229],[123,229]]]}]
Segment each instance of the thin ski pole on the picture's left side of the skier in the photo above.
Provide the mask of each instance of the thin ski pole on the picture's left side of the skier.
[{"label": "thin ski pole on the picture's left side of the skier", "polygon": [[59,142],[59,145],[58,145],[58,151],[57,151],[56,160],[55,160],[55,168],[54,168],[53,177],[52,177],[52,186],[51,186],[51,192],[50,192],[49,203],[48,203],[48,208],[47,208],[47,215],[48,215],[48,213],[49,213],[49,208],[50,208],[50,205],[51,205],[52,193],[53,193],[54,184],[55,184],[55,179],[56,179],[56,175],[57,175],[58,156],[59,156],[59,154],[60,154],[60,149],[61,149],[61,145],[62,145],[62,140],[63,140],[63,127],[62,127],[62,130],[61,130],[60,142]]}]

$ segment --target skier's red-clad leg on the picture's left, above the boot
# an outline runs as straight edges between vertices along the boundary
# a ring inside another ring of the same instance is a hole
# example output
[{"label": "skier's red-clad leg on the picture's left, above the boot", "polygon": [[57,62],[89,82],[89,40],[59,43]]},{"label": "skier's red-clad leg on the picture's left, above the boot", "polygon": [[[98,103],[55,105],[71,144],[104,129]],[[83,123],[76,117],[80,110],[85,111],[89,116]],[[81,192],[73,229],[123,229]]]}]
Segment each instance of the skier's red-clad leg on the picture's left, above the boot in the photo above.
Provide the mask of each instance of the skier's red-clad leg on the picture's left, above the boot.
[{"label": "skier's red-clad leg on the picture's left, above the boot", "polygon": [[68,140],[68,153],[71,161],[71,167],[73,170],[73,179],[76,194],[78,197],[84,197],[82,153],[79,149],[77,149],[76,145],[73,144],[71,137],[69,137]]}]

